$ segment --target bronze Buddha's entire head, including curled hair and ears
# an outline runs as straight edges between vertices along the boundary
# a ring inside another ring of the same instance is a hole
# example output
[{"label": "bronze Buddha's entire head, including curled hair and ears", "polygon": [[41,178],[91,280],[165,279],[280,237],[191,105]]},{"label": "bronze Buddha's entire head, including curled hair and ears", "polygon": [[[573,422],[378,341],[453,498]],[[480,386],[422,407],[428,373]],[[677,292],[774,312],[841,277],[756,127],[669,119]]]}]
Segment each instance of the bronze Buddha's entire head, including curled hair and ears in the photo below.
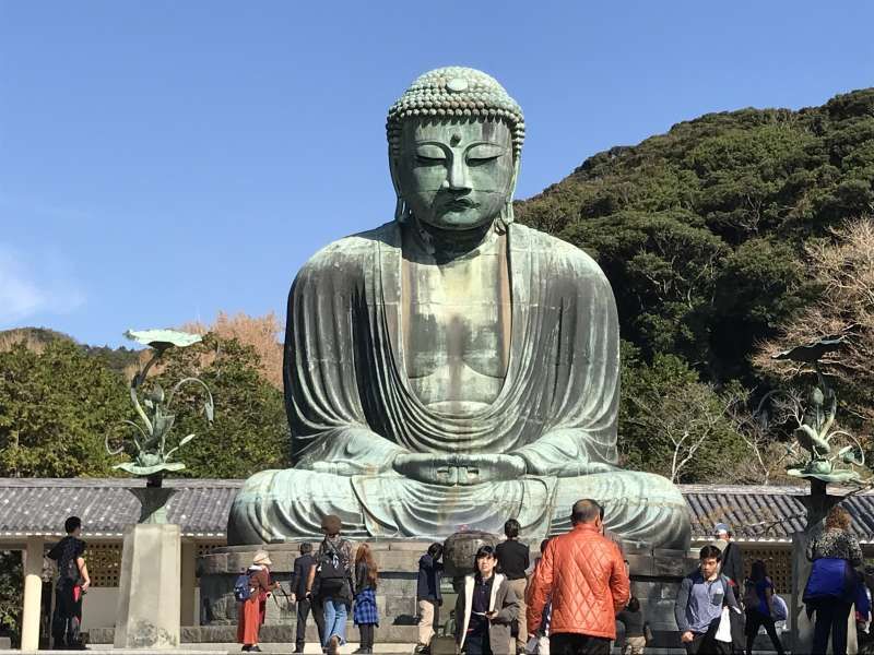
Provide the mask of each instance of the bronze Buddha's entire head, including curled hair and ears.
[{"label": "bronze Buddha's entire head, including curled hair and ears", "polygon": [[425,73],[389,109],[387,131],[398,221],[449,230],[512,221],[524,120],[493,78],[460,67]]}]

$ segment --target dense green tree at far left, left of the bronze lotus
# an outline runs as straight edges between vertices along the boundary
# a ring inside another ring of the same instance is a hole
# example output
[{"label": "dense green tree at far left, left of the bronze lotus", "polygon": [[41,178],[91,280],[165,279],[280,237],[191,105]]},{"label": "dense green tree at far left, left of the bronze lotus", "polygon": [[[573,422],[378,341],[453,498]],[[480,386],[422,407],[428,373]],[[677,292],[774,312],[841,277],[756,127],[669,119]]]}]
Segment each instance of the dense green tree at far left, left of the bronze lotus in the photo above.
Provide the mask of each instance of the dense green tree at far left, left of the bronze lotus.
[{"label": "dense green tree at far left, left of the bronze lotus", "polygon": [[130,415],[123,379],[73,343],[0,353],[0,476],[110,475],[104,440]]}]

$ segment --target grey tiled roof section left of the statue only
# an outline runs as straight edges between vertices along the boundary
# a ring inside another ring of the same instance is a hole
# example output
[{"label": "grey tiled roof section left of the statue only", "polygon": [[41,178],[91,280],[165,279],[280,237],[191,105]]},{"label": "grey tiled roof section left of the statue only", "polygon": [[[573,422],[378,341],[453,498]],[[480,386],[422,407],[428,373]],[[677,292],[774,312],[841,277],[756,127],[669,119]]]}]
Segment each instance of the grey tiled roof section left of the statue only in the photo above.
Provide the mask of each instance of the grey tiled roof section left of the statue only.
[{"label": "grey tiled roof section left of the statue only", "polygon": [[[91,537],[118,537],[137,523],[140,501],[128,491],[144,487],[130,478],[0,478],[0,537],[63,535],[71,514]],[[164,480],[176,489],[167,517],[182,535],[224,538],[231,502],[243,480]]]}]

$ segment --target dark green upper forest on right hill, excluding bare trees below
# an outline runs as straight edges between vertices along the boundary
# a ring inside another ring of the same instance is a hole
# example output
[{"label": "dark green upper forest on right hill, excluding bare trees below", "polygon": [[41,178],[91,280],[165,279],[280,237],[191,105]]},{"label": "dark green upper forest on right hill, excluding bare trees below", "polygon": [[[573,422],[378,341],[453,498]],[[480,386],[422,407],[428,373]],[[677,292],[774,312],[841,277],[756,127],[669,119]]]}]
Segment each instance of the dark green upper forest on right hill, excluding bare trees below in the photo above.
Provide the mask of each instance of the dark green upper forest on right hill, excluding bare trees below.
[{"label": "dark green upper forest on right hill, excluding bare trees below", "polygon": [[586,249],[613,284],[623,337],[704,380],[758,382],[749,364],[817,293],[803,245],[874,209],[874,88],[822,107],[743,109],[588,158],[517,203]]}]

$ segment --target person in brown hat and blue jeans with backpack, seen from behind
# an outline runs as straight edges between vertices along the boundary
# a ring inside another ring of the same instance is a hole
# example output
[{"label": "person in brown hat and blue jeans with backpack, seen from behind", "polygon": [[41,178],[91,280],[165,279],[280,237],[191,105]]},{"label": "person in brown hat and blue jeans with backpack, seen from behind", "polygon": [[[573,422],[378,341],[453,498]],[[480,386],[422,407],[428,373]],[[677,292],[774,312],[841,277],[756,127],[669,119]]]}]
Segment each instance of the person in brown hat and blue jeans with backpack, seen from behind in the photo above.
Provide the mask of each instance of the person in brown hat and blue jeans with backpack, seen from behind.
[{"label": "person in brown hat and blue jeans with backpack, seen from behind", "polygon": [[340,516],[328,514],[321,520],[324,538],[310,569],[307,594],[323,608],[322,648],[336,655],[346,643],[346,617],[352,605],[352,545],[340,536]]}]

